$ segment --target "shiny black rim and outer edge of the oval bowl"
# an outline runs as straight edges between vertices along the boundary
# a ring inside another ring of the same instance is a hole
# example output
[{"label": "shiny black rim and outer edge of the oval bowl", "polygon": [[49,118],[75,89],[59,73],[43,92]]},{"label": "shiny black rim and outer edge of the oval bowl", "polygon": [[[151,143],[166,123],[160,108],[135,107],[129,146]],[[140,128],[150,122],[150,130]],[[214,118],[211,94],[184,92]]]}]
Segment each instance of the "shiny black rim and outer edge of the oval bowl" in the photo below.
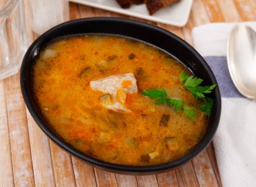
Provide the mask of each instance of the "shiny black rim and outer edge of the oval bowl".
[{"label": "shiny black rim and outer edge of the oval bowl", "polygon": [[183,157],[181,157],[177,160],[174,160],[171,162],[166,162],[163,164],[154,165],[154,166],[127,166],[127,165],[113,164],[110,162],[104,162],[102,160],[98,160],[96,158],[91,157],[90,155],[86,155],[85,153],[82,153],[81,151],[75,149],[74,147],[72,147],[71,145],[69,145],[68,143],[63,141],[55,133],[53,133],[53,131],[51,131],[51,129],[49,129],[48,125],[44,124],[44,121],[41,120],[40,115],[38,115],[38,113],[34,109],[34,107],[32,105],[32,101],[30,101],[28,91],[26,90],[26,86],[25,86],[26,81],[27,81],[25,78],[25,74],[27,73],[26,67],[25,67],[26,61],[28,59],[30,59],[29,56],[32,53],[33,53],[33,56],[36,56],[36,54],[38,53],[38,51],[36,51],[36,48],[35,48],[36,44],[38,44],[40,41],[44,41],[46,36],[49,36],[49,34],[55,32],[55,30],[62,29],[63,27],[69,27],[72,24],[86,23],[88,21],[114,21],[117,23],[121,21],[123,23],[148,27],[148,29],[154,29],[158,32],[162,32],[162,33],[168,35],[169,37],[174,38],[174,40],[177,40],[177,42],[180,42],[183,46],[185,46],[185,48],[187,48],[195,56],[195,58],[197,58],[201,62],[201,65],[203,65],[204,68],[207,70],[207,74],[210,77],[210,80],[212,80],[212,82],[217,83],[217,80],[216,80],[212,70],[210,69],[210,66],[207,64],[207,62],[205,62],[203,57],[190,44],[185,42],[185,40],[179,38],[179,36],[176,36],[176,35],[172,34],[171,32],[166,31],[165,29],[162,29],[161,27],[158,27],[156,25],[151,25],[148,23],[144,23],[141,21],[135,21],[132,19],[123,19],[123,18],[118,18],[118,17],[90,17],[90,18],[82,18],[82,19],[75,19],[75,20],[67,21],[65,23],[61,23],[60,25],[53,27],[52,29],[49,29],[48,31],[44,32],[44,34],[39,36],[36,40],[34,40],[34,42],[28,48],[28,50],[24,56],[24,59],[22,61],[22,67],[20,70],[20,86],[22,88],[22,95],[24,97],[24,101],[26,103],[28,111],[30,111],[30,114],[32,115],[32,117],[34,118],[34,121],[36,121],[36,123],[40,127],[40,129],[42,129],[42,131],[44,131],[44,133],[51,140],[53,140],[57,145],[59,145],[59,147],[61,147],[65,151],[71,153],[71,155],[74,155],[76,158],[79,158],[80,160],[83,160],[83,161],[87,162],[88,164],[91,164],[92,166],[96,166],[96,167],[98,166],[98,168],[103,168],[103,169],[114,171],[114,172],[123,172],[125,174],[133,174],[133,173],[141,174],[143,172],[145,172],[146,174],[156,174],[159,172],[165,172],[167,170],[171,170],[173,168],[176,168],[177,166],[181,166],[182,164],[185,164],[186,162],[188,162],[189,160],[194,158],[195,155],[197,155],[201,151],[203,151],[203,149],[205,149],[205,147],[207,147],[207,145],[210,143],[210,141],[212,141],[212,138],[214,137],[214,134],[216,133],[216,130],[218,128],[218,124],[220,121],[221,97],[220,97],[220,90],[219,90],[218,86],[216,86],[216,91],[215,91],[215,95],[216,95],[215,102],[218,105],[217,106],[218,108],[216,110],[216,116],[217,116],[217,119],[215,120],[216,123],[214,123],[213,129],[210,131],[209,135],[207,135],[207,138],[203,141],[203,143],[199,142],[191,151],[189,151],[189,153],[187,153],[186,155],[183,155]]}]

